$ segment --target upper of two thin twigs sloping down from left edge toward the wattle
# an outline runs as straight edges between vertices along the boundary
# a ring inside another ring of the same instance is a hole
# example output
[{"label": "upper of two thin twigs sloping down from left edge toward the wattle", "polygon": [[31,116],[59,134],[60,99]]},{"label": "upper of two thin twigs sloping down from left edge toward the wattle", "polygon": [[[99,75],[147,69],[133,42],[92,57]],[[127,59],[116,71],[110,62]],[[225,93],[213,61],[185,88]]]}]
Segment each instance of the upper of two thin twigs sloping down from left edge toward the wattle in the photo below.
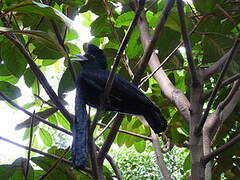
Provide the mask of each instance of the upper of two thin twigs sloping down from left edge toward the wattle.
[{"label": "upper of two thin twigs sloping down from left edge toward the wattle", "polygon": [[[9,99],[8,97],[6,97],[1,91],[0,91],[0,97],[3,98],[4,100],[6,100],[9,104],[11,104],[12,106],[14,106],[15,108],[23,111],[25,114],[29,115],[30,117],[33,117],[33,114],[32,114],[31,112],[29,112],[29,111],[27,111],[26,109],[20,107],[18,104],[16,104],[15,102],[13,102],[11,99]],[[58,127],[58,126],[56,126],[55,124],[52,124],[52,123],[46,121],[45,119],[43,119],[43,118],[41,118],[41,117],[39,117],[39,116],[37,116],[37,115],[35,115],[34,118],[35,118],[35,120],[38,120],[38,121],[40,121],[40,122],[42,122],[42,123],[44,123],[44,124],[47,124],[48,126],[54,128],[54,129],[57,129],[57,130],[59,130],[59,131],[62,131],[62,132],[64,132],[64,133],[68,134],[68,135],[72,135],[72,133],[71,133],[70,131],[68,131],[68,130],[66,130],[66,129],[63,129],[63,128],[61,128],[61,127]]]}]

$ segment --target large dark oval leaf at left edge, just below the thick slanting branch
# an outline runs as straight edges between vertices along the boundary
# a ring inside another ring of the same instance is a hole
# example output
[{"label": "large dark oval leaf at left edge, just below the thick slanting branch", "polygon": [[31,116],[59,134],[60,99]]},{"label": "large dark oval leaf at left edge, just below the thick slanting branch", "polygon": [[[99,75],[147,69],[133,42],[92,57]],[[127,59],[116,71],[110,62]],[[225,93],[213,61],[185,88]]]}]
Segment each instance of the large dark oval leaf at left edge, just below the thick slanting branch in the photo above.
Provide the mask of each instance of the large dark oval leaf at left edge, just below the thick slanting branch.
[{"label": "large dark oval leaf at left edge, just below the thick slanting branch", "polygon": [[1,57],[7,70],[14,76],[21,77],[27,66],[24,56],[10,41],[5,40],[2,44]]}]

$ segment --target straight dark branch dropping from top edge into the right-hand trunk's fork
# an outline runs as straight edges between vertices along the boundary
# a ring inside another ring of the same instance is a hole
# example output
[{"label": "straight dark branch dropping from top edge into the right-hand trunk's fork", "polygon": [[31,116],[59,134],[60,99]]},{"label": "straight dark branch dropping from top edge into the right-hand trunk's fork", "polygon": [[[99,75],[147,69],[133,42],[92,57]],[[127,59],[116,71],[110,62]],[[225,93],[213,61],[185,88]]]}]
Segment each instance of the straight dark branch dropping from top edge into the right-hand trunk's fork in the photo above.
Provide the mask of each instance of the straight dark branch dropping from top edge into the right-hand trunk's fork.
[{"label": "straight dark branch dropping from top edge into the right-hand trunk's fork", "polygon": [[187,60],[188,60],[188,64],[189,64],[189,69],[190,69],[190,73],[192,76],[192,86],[198,87],[200,82],[198,79],[196,65],[194,63],[193,56],[192,56],[192,48],[191,48],[189,36],[187,34],[187,28],[186,28],[186,23],[185,23],[185,14],[184,14],[184,10],[183,10],[182,0],[177,0],[177,9],[178,9],[178,14],[179,14],[182,37],[183,37],[183,42],[184,42],[184,46],[186,49],[186,55],[187,55]]}]

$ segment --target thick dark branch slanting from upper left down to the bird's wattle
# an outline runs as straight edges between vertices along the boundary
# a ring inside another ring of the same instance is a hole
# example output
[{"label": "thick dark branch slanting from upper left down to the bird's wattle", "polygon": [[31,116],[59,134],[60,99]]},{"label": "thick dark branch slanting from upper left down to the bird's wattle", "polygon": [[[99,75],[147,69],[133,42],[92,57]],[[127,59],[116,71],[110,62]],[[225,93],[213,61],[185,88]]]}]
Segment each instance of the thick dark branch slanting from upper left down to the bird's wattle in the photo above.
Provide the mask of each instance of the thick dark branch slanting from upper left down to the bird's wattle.
[{"label": "thick dark branch slanting from upper left down to the bird's wattle", "polygon": [[62,105],[61,100],[59,97],[56,95],[56,93],[53,91],[52,87],[48,83],[47,79],[43,75],[43,73],[40,71],[38,66],[35,64],[33,61],[32,57],[30,54],[27,52],[26,48],[24,45],[16,38],[14,38],[11,35],[5,35],[12,43],[20,50],[20,52],[24,55],[26,58],[27,63],[29,64],[31,70],[41,83],[42,87],[45,89],[46,93],[50,97],[50,99],[53,101],[53,103],[56,105],[56,107],[59,109],[59,111],[67,118],[67,120],[71,123],[72,119],[69,114],[69,112],[66,110],[66,108]]}]

